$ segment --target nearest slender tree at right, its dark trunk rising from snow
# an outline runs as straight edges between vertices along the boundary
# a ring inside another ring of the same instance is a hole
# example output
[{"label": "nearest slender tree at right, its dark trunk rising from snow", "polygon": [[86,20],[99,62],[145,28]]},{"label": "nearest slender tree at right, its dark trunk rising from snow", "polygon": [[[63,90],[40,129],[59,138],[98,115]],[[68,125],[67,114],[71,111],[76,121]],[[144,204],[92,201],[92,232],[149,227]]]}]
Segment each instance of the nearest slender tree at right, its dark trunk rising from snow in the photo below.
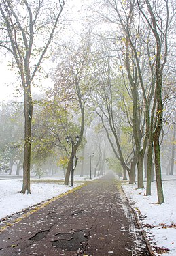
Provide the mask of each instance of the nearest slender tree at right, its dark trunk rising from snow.
[{"label": "nearest slender tree at right, its dark trunk rising from snow", "polygon": [[[154,104],[156,104],[156,113],[154,113],[154,153],[155,153],[155,169],[156,184],[158,192],[158,203],[164,203],[164,195],[162,190],[162,177],[160,165],[160,133],[163,124],[163,103],[162,103],[162,86],[163,71],[168,55],[168,35],[169,24],[173,15],[169,13],[169,1],[139,1],[137,0],[139,10],[145,18],[149,29],[152,31],[156,45],[155,55],[155,91]],[[174,14],[174,12],[173,12]],[[171,15],[171,16],[170,16]]]}]

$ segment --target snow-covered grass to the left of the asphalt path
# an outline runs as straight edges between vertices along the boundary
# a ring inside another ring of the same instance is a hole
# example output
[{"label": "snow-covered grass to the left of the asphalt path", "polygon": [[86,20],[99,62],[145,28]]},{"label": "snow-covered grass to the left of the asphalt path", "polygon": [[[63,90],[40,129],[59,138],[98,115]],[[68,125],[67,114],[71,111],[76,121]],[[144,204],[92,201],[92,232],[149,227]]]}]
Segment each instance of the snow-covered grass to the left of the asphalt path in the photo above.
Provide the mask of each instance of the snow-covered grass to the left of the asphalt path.
[{"label": "snow-covered grass to the left of the asphalt path", "polygon": [[[79,183],[74,184],[74,187],[79,185]],[[20,194],[21,189],[22,180],[0,180],[0,219],[5,218],[7,215],[20,212],[23,208],[65,193],[71,187],[56,182],[32,182],[31,194]]]}]

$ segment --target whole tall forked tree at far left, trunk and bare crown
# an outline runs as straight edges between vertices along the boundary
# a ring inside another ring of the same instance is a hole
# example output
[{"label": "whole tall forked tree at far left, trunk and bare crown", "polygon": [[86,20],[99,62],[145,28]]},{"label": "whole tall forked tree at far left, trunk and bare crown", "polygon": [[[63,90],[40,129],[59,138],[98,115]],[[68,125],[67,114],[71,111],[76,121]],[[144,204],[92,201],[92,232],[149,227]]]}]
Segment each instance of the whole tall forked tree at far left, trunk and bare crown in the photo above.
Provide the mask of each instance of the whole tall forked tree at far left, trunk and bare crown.
[{"label": "whole tall forked tree at far left, trunk and bare crown", "polygon": [[21,193],[31,193],[31,124],[33,99],[31,85],[58,28],[64,0],[1,0],[0,47],[12,53],[24,91],[24,162]]}]

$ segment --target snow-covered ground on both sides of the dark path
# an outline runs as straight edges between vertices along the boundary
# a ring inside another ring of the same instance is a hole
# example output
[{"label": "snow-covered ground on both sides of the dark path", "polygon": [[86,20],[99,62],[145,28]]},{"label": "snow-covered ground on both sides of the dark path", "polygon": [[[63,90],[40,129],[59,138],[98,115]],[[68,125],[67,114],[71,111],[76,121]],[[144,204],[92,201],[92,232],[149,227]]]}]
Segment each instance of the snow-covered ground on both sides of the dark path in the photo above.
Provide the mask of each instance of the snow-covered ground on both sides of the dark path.
[{"label": "snow-covered ground on both sides of the dark path", "polygon": [[[156,194],[156,182],[152,183],[152,196],[145,196],[145,189],[137,190],[137,185],[123,184],[122,187],[132,207],[138,216],[142,216],[140,223],[152,246],[157,246],[170,251],[164,255],[176,255],[176,175],[164,177],[163,181],[165,203],[158,205]],[[43,179],[42,179],[43,180]],[[56,180],[56,177],[51,178]],[[75,178],[75,186],[82,181],[88,180]],[[24,208],[35,205],[52,197],[56,197],[71,189],[57,182],[32,182],[31,195],[22,195],[19,191],[22,188],[22,180],[0,180],[0,219],[7,215],[19,212]],[[140,214],[139,214],[140,213]],[[139,219],[140,219],[139,218]],[[158,254],[160,255],[160,254]]]}]

